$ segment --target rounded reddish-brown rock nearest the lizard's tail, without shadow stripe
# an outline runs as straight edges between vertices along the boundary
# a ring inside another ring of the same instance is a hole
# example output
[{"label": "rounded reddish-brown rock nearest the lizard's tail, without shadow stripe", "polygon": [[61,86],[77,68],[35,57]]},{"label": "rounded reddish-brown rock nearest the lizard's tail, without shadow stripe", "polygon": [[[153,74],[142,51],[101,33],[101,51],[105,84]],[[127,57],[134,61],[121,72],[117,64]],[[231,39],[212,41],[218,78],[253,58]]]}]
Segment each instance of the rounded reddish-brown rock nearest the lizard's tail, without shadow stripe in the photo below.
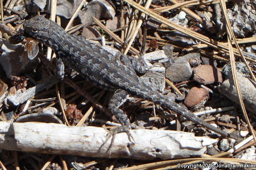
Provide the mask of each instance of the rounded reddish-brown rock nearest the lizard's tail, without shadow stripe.
[{"label": "rounded reddish-brown rock nearest the lizard's tail, without shadow stripe", "polygon": [[193,107],[202,100],[209,98],[209,91],[204,88],[192,87],[184,100],[184,105]]}]

